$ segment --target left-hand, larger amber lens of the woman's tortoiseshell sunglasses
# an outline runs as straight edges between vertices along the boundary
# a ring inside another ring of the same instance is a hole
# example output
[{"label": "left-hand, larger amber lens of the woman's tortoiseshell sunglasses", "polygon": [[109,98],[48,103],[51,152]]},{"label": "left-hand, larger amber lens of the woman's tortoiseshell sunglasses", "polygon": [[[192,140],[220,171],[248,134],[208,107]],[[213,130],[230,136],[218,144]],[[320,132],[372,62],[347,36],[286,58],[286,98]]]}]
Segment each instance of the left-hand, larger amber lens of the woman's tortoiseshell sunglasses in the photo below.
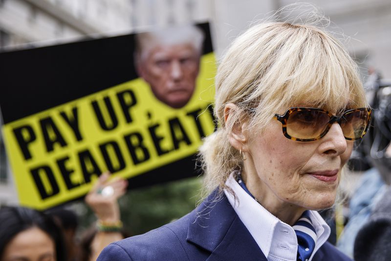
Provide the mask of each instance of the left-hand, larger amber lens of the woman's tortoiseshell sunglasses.
[{"label": "left-hand, larger amber lens of the woman's tortoiseshell sunglasses", "polygon": [[286,132],[297,139],[314,139],[325,131],[329,120],[330,117],[325,112],[299,109],[289,114]]}]

